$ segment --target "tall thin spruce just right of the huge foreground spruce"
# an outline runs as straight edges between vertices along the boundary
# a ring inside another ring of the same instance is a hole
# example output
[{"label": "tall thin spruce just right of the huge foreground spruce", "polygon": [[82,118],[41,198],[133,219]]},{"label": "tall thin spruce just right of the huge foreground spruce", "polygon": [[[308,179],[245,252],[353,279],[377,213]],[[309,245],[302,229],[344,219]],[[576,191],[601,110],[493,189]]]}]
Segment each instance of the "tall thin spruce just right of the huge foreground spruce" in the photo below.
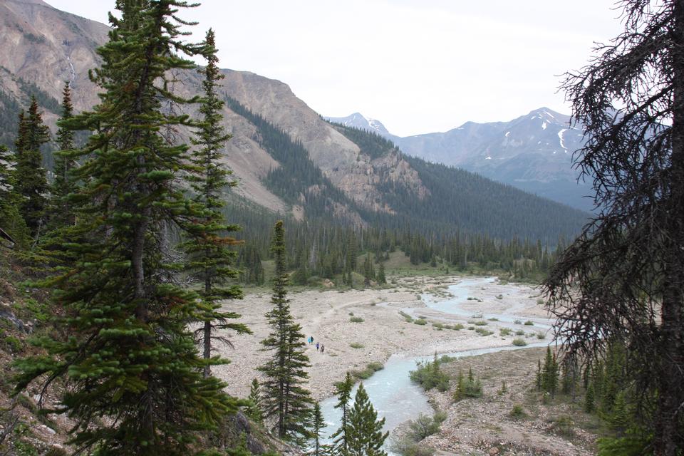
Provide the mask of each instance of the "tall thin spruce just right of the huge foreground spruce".
[{"label": "tall thin spruce just right of the huge foreground spruce", "polygon": [[[212,358],[212,341],[217,339],[214,335],[217,329],[251,333],[242,323],[229,323],[240,315],[232,311],[223,311],[220,302],[224,299],[242,299],[243,295],[242,289],[236,284],[227,288],[219,286],[238,276],[237,270],[232,267],[237,253],[230,247],[239,242],[224,233],[236,232],[239,227],[227,224],[221,212],[225,205],[222,201],[222,191],[226,187],[232,187],[234,181],[228,180],[232,172],[224,169],[220,161],[221,150],[230,135],[225,133],[221,124],[221,108],[224,103],[218,98],[217,85],[223,75],[218,67],[216,53],[214,31],[209,28],[202,46],[207,66],[199,70],[199,73],[204,75],[204,96],[199,105],[202,121],[192,141],[197,149],[192,152],[193,167],[188,177],[192,189],[195,190],[193,201],[201,208],[201,212],[187,224],[190,240],[183,244],[188,254],[186,269],[202,283],[199,295],[202,296],[206,310],[202,313],[202,328],[195,334],[202,343],[202,356],[205,360]],[[211,366],[207,363],[207,366],[204,366],[204,376],[209,375]]]}]

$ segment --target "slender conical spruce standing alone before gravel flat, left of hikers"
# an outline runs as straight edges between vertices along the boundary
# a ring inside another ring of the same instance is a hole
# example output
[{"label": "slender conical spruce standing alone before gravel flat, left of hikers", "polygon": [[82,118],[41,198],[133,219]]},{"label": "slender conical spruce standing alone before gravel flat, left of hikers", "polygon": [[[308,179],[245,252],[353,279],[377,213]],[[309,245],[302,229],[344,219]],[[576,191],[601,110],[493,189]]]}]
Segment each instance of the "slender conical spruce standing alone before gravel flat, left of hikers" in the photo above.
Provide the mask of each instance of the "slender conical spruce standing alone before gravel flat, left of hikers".
[{"label": "slender conical spruce standing alone before gravel flat, left of hikers", "polygon": [[290,313],[286,286],[285,230],[283,222],[276,222],[271,241],[271,253],[276,264],[276,276],[271,294],[273,309],[266,313],[271,326],[269,337],[261,343],[263,350],[272,351],[271,359],[259,367],[264,380],[264,415],[274,422],[274,430],[283,439],[304,445],[309,430],[306,420],[313,400],[302,384],[309,377],[309,357],[304,353],[304,334]]}]

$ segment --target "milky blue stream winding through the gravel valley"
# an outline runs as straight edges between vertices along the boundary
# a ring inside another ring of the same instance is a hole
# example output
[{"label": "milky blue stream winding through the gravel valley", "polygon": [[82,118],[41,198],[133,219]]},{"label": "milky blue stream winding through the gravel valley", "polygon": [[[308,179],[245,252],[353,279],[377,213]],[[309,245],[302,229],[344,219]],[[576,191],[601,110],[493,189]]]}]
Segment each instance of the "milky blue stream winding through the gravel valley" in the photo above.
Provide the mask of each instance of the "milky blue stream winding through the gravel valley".
[{"label": "milky blue stream winding through the gravel valley", "polygon": [[[460,306],[467,301],[469,290],[472,292],[472,289],[475,287],[480,289],[482,285],[491,284],[495,280],[494,277],[465,279],[457,284],[448,286],[447,291],[452,297],[440,299],[432,294],[423,294],[421,295],[421,300],[428,308],[446,314],[444,318],[430,317],[431,319],[442,319],[444,321],[467,320],[473,317],[472,311],[461,309]],[[378,304],[378,306],[387,305],[388,303]],[[522,310],[522,307],[522,304],[519,306],[514,305],[505,309],[504,313],[479,314],[477,315],[477,318],[497,318],[499,326],[525,328],[525,326],[522,326],[520,323],[522,317],[512,314],[512,312]],[[418,318],[415,316],[415,313],[420,313],[421,309],[406,308],[398,310],[401,310],[414,318]],[[453,315],[457,318],[449,318],[449,315]],[[534,321],[534,326],[537,330],[549,331],[551,328],[552,322],[545,318],[532,318],[532,320]],[[544,347],[548,344],[548,341],[542,341],[524,347],[501,346],[475,348],[467,351],[439,354],[446,354],[454,358],[462,358],[466,356],[484,355],[485,353],[496,353],[499,351],[519,350],[521,348]],[[366,393],[368,393],[368,398],[370,398],[371,403],[373,403],[373,408],[378,412],[378,418],[385,418],[385,427],[383,430],[390,431],[391,433],[395,427],[408,420],[418,418],[418,415],[421,413],[430,416],[434,413],[434,410],[432,410],[432,407],[427,402],[427,395],[423,392],[423,388],[412,383],[409,378],[410,371],[415,371],[418,363],[424,361],[432,361],[432,356],[411,356],[397,353],[390,356],[387,363],[385,363],[385,368],[383,368],[383,370],[377,371],[370,378],[363,380],[363,387],[366,388]],[[353,405],[353,398],[356,396],[357,389],[358,383],[354,386],[352,391],[351,403],[349,404],[350,407]],[[326,443],[331,442],[330,436],[338,429],[342,419],[341,410],[335,408],[336,403],[337,398],[335,396],[321,401],[321,411],[323,412],[323,418],[325,418],[326,421],[326,427],[323,430]],[[388,449],[389,444],[390,439],[388,438],[385,442],[385,450],[388,451],[388,455],[395,455],[395,453],[390,452]]]}]

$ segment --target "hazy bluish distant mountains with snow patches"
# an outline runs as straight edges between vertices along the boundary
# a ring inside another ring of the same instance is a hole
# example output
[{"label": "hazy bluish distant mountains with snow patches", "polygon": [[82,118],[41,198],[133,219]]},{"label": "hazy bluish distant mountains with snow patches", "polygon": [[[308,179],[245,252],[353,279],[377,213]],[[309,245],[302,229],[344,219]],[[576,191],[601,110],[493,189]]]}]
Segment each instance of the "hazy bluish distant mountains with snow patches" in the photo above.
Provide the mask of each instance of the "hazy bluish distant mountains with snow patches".
[{"label": "hazy bluish distant mountains with snow patches", "polygon": [[572,155],[583,145],[580,126],[570,127],[568,115],[539,108],[509,122],[467,122],[445,133],[401,138],[379,120],[360,113],[328,118],[392,140],[403,152],[430,162],[477,172],[527,192],[578,209],[591,210],[591,187],[577,182]]}]

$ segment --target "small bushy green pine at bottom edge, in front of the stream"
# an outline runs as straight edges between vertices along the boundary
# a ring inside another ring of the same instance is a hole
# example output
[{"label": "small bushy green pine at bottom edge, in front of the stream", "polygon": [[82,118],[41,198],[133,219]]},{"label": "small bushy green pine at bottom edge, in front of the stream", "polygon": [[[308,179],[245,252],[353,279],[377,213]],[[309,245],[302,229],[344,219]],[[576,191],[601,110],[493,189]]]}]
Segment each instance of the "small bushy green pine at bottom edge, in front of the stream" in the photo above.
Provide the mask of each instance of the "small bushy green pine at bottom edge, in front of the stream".
[{"label": "small bushy green pine at bottom edge, in front of the stream", "polygon": [[358,385],[347,430],[349,456],[387,456],[382,450],[389,432],[383,433],[385,418],[378,420],[363,383]]}]

